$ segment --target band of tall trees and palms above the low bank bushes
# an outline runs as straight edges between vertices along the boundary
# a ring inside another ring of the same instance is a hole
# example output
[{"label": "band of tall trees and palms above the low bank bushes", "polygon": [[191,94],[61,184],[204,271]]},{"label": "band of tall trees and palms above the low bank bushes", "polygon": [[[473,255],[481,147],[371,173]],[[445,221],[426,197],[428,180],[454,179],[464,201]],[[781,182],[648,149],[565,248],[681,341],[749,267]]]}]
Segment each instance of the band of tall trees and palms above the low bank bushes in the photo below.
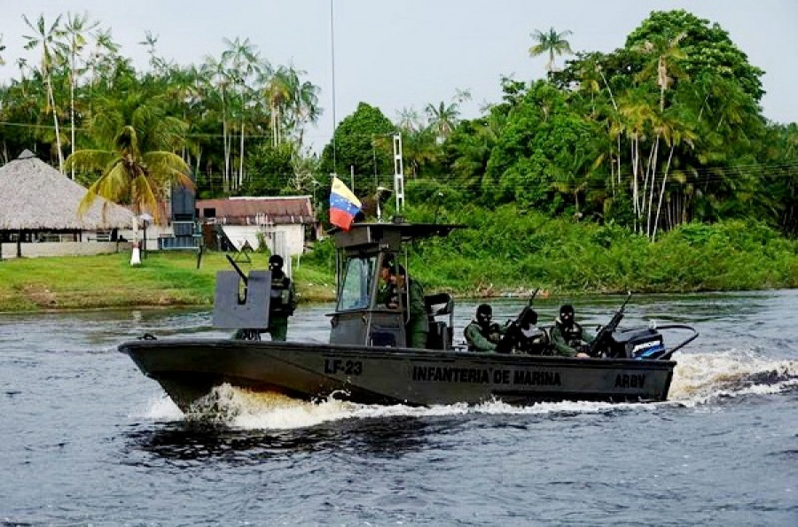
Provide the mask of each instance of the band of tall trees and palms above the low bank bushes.
[{"label": "band of tall trees and palms above the low bank bushes", "polygon": [[248,38],[180,66],[148,32],[149,65],[137,71],[86,15],[23,21],[38,58],[8,57],[0,40],[0,59],[19,70],[0,86],[0,157],[29,149],[60,167],[74,152],[70,175],[148,210],[192,175],[203,198],[301,192],[323,213],[332,173],[354,172],[362,195],[390,186],[401,134],[410,200],[512,204],[650,240],[727,219],[798,234],[795,123],[763,118],[764,72],[722,27],[684,10],[652,12],[622,48],[579,50],[561,68],[571,33],[536,31],[528,51],[548,57],[544,80],[503,77],[501,100],[465,120],[468,90],[395,122],[361,103],[320,156],[304,141],[321,87]]}]

